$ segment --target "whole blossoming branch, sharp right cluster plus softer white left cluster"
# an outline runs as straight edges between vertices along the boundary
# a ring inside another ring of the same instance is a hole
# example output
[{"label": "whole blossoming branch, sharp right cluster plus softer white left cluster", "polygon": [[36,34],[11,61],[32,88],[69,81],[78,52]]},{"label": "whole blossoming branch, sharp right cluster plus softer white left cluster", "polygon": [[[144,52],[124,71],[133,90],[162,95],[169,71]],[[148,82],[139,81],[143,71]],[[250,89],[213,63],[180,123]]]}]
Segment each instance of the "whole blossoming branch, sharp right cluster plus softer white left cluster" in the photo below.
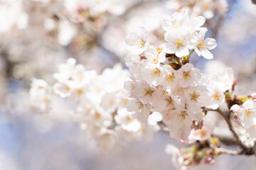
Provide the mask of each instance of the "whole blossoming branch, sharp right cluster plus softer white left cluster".
[{"label": "whole blossoming branch, sharp right cluster plus softer white left cluster", "polygon": [[[70,58],[53,74],[53,87],[33,79],[31,101],[50,115],[53,96],[66,98],[74,107],[70,117],[103,150],[133,140],[151,141],[154,132],[162,129],[191,145],[183,149],[166,147],[178,168],[201,162],[213,164],[219,154],[253,155],[253,146],[240,139],[231,118],[234,116],[235,123],[253,140],[256,94],[233,96],[236,81],[231,68],[207,75],[190,62],[193,53],[213,59],[210,50],[217,43],[205,38],[205,22],[203,16],[191,18],[187,13],[174,13],[162,22],[165,42],[159,47],[150,44],[146,28],[135,28],[125,40],[124,60],[129,73],[117,64],[99,74]],[[220,110],[225,104],[227,114]],[[217,125],[212,112],[227,123],[240,151],[222,147],[222,141],[213,133]]]}]

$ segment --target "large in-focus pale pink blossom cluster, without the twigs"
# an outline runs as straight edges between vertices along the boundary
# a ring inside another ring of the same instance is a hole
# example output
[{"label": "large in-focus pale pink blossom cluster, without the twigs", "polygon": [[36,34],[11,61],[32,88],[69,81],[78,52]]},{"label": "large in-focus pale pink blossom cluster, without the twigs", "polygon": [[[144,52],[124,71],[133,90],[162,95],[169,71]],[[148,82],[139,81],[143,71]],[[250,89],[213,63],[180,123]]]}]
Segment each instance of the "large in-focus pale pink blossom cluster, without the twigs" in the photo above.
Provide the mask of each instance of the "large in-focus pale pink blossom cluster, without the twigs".
[{"label": "large in-focus pale pink blossom cluster, without the twigs", "polygon": [[203,120],[203,107],[217,109],[223,104],[224,92],[232,87],[234,79],[232,69],[206,77],[186,62],[193,51],[207,59],[213,58],[209,50],[216,43],[213,38],[204,39],[207,30],[201,27],[204,22],[202,16],[189,18],[186,14],[174,13],[163,21],[164,45],[150,45],[143,27],[126,39],[125,60],[133,74],[124,84],[129,97],[133,98],[127,103],[127,110],[135,112],[144,123],[154,111],[161,113],[171,137],[185,142],[188,136],[191,141],[210,137],[212,127],[191,131],[191,126]]}]

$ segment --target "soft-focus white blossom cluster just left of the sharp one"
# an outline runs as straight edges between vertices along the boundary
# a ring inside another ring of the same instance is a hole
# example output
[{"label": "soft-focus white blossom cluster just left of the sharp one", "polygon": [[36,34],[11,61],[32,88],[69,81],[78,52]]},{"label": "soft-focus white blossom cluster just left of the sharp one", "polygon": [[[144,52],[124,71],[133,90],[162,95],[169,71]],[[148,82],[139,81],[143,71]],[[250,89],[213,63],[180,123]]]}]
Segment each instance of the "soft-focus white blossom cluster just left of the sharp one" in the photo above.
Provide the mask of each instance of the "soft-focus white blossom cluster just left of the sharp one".
[{"label": "soft-focus white blossom cluster just left of the sharp one", "polygon": [[159,130],[156,123],[159,115],[152,114],[148,123],[142,123],[134,113],[127,111],[125,106],[129,98],[126,97],[127,91],[123,84],[129,79],[128,75],[121,64],[97,74],[95,70],[86,70],[82,64],[76,64],[75,59],[69,58],[53,74],[57,80],[53,90],[46,81],[33,79],[31,103],[51,116],[51,108],[56,107],[56,98],[65,98],[71,105],[70,118],[101,149],[114,149],[121,144],[121,140],[130,142],[144,138],[150,141],[153,133]]}]

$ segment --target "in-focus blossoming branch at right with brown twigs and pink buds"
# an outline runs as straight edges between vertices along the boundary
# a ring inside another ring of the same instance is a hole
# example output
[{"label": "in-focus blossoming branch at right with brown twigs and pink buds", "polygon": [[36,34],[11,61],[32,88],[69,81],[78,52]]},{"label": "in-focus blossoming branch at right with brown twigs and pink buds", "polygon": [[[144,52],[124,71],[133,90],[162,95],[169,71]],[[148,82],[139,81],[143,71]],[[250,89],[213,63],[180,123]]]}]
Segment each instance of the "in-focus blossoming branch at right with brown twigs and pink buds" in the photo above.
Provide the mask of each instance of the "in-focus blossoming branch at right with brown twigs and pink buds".
[{"label": "in-focus blossoming branch at right with brown twigs and pink buds", "polygon": [[[230,120],[235,113],[233,107],[240,108],[237,104],[243,103],[245,110],[237,111],[235,121],[245,129],[252,128],[249,134],[255,137],[252,132],[255,132],[256,104],[250,98],[232,98],[230,90],[233,91],[235,86],[232,69],[204,76],[189,63],[193,52],[213,59],[209,50],[216,47],[216,43],[213,38],[204,38],[207,31],[201,27],[204,22],[201,16],[189,18],[186,13],[174,13],[163,21],[166,43],[157,48],[149,44],[145,28],[138,28],[126,39],[126,64],[133,74],[132,81],[126,82],[129,97],[133,98],[127,109],[135,112],[143,122],[154,108],[163,115],[159,124],[162,129],[169,131],[171,137],[193,144],[181,149],[181,166],[194,166],[203,159],[205,163],[213,164],[218,154],[254,154],[252,147],[245,146],[240,140]],[[226,115],[219,108],[224,101],[230,110]],[[215,125],[208,118],[211,114],[208,111],[219,113],[225,120],[240,152],[220,148],[220,141],[213,136]],[[243,118],[245,115],[248,118]]]}]

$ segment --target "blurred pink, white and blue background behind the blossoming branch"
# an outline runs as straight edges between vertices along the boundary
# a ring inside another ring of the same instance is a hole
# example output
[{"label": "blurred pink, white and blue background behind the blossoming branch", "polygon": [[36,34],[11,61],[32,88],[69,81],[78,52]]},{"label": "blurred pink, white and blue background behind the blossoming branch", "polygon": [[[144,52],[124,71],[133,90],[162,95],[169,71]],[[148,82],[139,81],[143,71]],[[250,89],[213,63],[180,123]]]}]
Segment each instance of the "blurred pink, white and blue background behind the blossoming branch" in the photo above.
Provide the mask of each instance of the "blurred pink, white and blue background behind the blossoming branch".
[{"label": "blurred pink, white and blue background behind the blossoming branch", "polygon": [[[144,26],[150,42],[161,45],[162,19],[185,10],[206,17],[206,36],[218,44],[212,61],[194,55],[195,67],[205,73],[232,67],[235,93],[255,92],[256,5],[250,0],[0,0],[0,169],[173,169],[164,148],[182,145],[168,133],[102,153],[75,123],[31,111],[28,89],[32,77],[52,85],[68,57],[99,74],[117,62],[125,67],[124,40],[134,27]],[[256,169],[255,160],[221,155],[195,169]]]}]

